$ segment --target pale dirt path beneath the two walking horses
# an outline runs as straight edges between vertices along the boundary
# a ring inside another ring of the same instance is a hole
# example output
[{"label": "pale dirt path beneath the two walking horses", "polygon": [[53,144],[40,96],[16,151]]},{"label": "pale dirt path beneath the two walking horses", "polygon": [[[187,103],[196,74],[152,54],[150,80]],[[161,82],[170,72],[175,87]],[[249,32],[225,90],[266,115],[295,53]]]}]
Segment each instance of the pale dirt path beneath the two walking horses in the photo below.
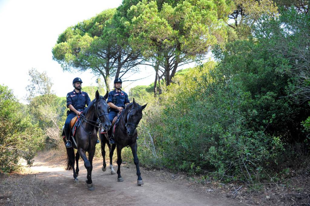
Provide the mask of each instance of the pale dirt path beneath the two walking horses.
[{"label": "pale dirt path beneath the two walking horses", "polygon": [[[87,189],[86,169],[80,160],[79,184],[73,183],[72,170],[64,170],[64,161],[51,162],[44,157],[37,157],[33,167],[26,173],[36,175],[45,182],[51,195],[64,205],[205,205],[230,206],[239,205],[232,199],[220,194],[197,191],[188,186],[188,180],[167,180],[163,173],[141,169],[144,185],[138,186],[134,165],[122,164],[121,172],[124,182],[117,182],[117,174],[111,175],[110,169],[102,172],[102,160],[93,162],[92,180],[95,191]],[[117,165],[113,165],[115,171]],[[170,174],[173,175],[173,174]]]}]

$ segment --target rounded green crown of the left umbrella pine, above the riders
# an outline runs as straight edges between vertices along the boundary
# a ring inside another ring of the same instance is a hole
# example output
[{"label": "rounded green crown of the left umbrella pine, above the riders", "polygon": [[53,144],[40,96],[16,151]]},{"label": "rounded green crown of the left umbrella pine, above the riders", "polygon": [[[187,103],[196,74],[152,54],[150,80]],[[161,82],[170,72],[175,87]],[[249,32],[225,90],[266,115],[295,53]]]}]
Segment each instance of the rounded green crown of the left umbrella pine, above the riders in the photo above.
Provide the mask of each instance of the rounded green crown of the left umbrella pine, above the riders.
[{"label": "rounded green crown of the left umbrella pine, above the riders", "polygon": [[139,53],[130,49],[121,33],[116,33],[115,11],[105,10],[67,28],[52,50],[53,59],[66,71],[91,70],[102,76],[107,89],[111,77],[137,71],[135,66],[139,64]]}]

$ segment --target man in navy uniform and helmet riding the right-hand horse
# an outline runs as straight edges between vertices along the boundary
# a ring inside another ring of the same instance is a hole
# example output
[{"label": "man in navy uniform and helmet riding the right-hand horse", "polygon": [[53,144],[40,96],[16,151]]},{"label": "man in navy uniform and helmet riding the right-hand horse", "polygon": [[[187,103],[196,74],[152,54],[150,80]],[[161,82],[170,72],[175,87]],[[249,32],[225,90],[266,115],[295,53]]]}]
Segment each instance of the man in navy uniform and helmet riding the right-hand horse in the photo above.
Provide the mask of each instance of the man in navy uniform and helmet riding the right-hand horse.
[{"label": "man in navy uniform and helmet riding the right-hand horse", "polygon": [[[128,99],[128,95],[126,92],[122,91],[122,80],[120,78],[115,78],[114,80],[114,90],[109,92],[107,103],[110,106],[109,110],[109,119],[112,123],[114,117],[117,115],[118,112],[122,112],[125,109],[126,105],[130,103]],[[112,135],[111,130],[109,130],[109,141],[110,144],[115,143]]]}]

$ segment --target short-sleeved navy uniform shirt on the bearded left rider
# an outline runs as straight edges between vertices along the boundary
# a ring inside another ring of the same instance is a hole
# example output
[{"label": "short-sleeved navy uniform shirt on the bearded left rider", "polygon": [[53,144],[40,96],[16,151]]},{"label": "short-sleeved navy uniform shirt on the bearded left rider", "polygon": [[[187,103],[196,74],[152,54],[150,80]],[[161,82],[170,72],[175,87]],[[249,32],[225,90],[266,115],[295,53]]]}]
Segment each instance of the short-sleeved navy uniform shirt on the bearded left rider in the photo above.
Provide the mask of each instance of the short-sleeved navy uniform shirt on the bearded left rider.
[{"label": "short-sleeved navy uniform shirt on the bearded left rider", "polygon": [[88,94],[81,90],[79,93],[76,93],[75,90],[73,90],[67,94],[67,107],[72,104],[76,110],[85,109],[85,105],[88,106],[90,103],[91,99],[89,99]]}]

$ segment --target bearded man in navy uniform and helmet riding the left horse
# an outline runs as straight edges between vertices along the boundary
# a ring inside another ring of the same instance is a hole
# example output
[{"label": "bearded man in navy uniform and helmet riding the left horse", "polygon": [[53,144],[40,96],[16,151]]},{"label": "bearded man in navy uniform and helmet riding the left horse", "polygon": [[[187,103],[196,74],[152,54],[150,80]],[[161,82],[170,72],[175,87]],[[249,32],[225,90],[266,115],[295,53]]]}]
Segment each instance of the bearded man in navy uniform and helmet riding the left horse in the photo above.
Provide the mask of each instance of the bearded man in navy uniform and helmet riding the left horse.
[{"label": "bearded man in navy uniform and helmet riding the left horse", "polygon": [[80,116],[81,112],[84,111],[85,105],[89,105],[91,103],[91,99],[89,98],[86,92],[82,92],[82,80],[79,77],[73,79],[72,85],[74,90],[67,94],[67,107],[70,109],[67,119],[64,123],[64,133],[66,135],[66,147],[71,147],[70,137],[70,121],[75,116]]}]

